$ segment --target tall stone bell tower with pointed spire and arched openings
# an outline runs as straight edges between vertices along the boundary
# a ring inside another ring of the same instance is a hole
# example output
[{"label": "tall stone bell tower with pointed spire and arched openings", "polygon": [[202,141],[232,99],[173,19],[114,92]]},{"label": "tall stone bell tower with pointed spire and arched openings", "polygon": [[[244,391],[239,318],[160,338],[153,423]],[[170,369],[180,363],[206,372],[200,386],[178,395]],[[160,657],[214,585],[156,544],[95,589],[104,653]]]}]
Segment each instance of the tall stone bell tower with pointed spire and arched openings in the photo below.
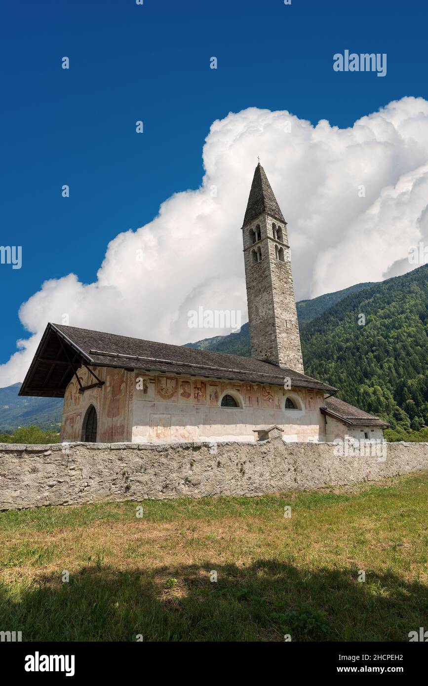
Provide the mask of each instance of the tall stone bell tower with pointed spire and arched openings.
[{"label": "tall stone bell tower with pointed spire and arched openings", "polygon": [[251,356],[303,372],[287,222],[260,163],[242,237]]}]

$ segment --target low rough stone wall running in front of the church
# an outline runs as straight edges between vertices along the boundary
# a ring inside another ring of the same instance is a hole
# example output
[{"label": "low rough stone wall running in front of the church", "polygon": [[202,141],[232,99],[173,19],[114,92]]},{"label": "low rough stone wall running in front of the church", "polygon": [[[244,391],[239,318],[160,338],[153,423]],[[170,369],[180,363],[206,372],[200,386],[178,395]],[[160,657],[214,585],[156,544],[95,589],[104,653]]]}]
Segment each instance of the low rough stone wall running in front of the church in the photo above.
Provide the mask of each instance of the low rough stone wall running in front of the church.
[{"label": "low rough stone wall running in front of the church", "polygon": [[179,496],[263,495],[428,469],[428,443],[385,457],[336,456],[333,443],[0,444],[0,509]]}]

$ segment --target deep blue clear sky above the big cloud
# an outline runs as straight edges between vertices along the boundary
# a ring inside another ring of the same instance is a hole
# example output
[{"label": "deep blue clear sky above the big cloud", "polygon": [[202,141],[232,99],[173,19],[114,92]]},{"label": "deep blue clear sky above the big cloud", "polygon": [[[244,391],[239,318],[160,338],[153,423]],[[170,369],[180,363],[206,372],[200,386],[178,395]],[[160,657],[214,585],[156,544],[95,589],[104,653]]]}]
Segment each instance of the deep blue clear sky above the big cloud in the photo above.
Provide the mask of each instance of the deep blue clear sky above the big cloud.
[{"label": "deep blue clear sky above the big cloud", "polygon": [[[343,128],[428,97],[420,0],[57,0],[8,3],[2,19],[0,244],[23,246],[23,267],[0,265],[0,362],[45,279],[94,281],[108,241],[199,187],[215,119],[257,106]],[[387,53],[387,75],[335,73],[344,49]]]}]

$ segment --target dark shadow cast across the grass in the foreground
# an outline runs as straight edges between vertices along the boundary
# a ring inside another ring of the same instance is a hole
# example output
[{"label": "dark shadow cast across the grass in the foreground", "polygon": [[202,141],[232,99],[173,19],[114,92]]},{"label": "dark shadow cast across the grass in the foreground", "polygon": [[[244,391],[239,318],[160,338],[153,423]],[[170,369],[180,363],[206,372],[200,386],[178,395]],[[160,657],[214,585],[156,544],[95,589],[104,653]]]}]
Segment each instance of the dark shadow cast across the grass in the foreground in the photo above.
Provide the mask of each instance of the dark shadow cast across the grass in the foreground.
[{"label": "dark shadow cast across the grass in the foreground", "polygon": [[[210,572],[217,572],[211,582]],[[89,566],[62,582],[1,587],[0,630],[23,641],[408,641],[428,628],[428,589],[357,570],[189,565]]]}]

